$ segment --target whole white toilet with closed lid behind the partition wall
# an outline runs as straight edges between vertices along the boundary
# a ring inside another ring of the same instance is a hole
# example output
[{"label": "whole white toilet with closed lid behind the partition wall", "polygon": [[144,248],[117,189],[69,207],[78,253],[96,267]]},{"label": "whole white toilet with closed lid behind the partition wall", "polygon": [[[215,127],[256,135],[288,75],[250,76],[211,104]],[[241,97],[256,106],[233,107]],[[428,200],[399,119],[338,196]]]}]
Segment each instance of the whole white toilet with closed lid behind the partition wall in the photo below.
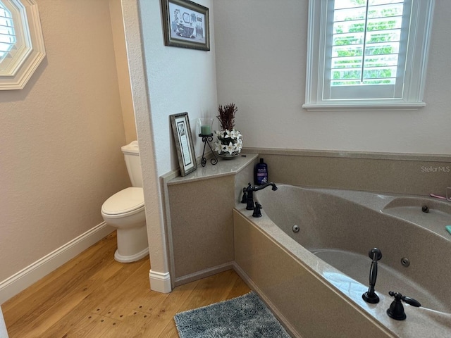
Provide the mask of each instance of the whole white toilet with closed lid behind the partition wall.
[{"label": "whole white toilet with closed lid behind the partition wall", "polygon": [[117,228],[118,249],[114,259],[121,263],[138,261],[149,254],[144,194],[138,142],[123,146],[125,164],[132,187],[116,192],[101,206],[106,224]]}]

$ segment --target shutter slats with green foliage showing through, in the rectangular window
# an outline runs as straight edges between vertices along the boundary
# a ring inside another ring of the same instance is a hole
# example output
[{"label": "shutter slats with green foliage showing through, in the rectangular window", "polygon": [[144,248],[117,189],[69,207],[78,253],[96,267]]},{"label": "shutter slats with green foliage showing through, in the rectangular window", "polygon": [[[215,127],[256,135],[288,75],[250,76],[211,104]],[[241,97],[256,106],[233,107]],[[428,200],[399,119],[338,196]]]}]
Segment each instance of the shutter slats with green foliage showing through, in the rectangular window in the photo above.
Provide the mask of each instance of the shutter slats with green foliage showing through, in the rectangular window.
[{"label": "shutter slats with green foliage showing through, in the rectangular window", "polygon": [[333,14],[330,84],[393,84],[404,1],[340,0]]}]

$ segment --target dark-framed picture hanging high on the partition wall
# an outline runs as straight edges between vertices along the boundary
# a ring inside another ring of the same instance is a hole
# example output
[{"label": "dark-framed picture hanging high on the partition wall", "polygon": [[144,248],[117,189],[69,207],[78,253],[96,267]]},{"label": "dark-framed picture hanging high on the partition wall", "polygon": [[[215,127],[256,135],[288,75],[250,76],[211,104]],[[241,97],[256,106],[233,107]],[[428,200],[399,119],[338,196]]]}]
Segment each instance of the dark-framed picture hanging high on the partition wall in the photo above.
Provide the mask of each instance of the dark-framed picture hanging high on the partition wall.
[{"label": "dark-framed picture hanging high on the partition wall", "polygon": [[210,50],[209,8],[190,0],[161,0],[164,44]]}]

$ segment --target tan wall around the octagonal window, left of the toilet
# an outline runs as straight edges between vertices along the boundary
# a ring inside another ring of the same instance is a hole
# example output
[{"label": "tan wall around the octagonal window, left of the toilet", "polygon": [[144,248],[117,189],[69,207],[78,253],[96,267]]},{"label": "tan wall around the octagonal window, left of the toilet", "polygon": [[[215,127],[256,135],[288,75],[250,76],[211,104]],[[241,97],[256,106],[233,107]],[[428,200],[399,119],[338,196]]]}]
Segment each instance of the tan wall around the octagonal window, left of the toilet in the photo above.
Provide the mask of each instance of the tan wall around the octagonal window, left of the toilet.
[{"label": "tan wall around the octagonal window, left of the toilet", "polygon": [[130,184],[109,0],[37,3],[47,57],[0,92],[0,281],[99,225]]}]

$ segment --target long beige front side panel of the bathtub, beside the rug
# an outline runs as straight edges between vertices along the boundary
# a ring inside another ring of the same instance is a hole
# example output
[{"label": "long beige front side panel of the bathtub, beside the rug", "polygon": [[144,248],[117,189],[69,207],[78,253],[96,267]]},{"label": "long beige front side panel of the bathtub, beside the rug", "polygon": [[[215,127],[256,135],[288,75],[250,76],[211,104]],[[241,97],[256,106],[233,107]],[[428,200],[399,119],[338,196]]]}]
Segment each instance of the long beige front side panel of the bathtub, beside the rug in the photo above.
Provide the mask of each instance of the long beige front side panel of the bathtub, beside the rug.
[{"label": "long beige front side panel of the bathtub, beside the rug", "polygon": [[271,234],[274,225],[255,225],[245,211],[235,210],[233,215],[235,270],[293,337],[395,337],[309,266],[326,263],[317,263],[318,258],[288,236],[280,239],[280,230]]}]

